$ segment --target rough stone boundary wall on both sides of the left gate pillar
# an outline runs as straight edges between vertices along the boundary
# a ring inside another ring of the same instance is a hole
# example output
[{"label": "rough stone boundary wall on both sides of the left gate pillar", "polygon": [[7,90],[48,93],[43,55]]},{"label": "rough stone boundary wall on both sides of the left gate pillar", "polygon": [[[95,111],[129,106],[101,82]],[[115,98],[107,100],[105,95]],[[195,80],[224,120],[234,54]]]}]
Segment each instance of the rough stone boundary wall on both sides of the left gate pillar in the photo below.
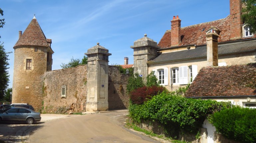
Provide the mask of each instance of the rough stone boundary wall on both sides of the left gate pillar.
[{"label": "rough stone boundary wall on both sides of the left gate pillar", "polygon": [[[109,66],[109,110],[126,109],[128,74],[119,73],[118,67]],[[66,97],[61,97],[66,85]],[[87,65],[45,72],[42,113],[65,114],[86,111]]]}]

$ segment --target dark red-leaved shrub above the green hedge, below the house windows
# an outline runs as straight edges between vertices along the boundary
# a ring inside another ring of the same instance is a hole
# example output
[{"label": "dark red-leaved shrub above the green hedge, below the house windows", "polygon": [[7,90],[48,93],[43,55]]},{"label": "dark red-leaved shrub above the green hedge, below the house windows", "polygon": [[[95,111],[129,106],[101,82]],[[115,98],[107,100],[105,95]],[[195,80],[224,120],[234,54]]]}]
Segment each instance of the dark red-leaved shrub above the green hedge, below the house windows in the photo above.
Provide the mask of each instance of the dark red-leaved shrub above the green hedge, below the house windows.
[{"label": "dark red-leaved shrub above the green hedge, below the house windows", "polygon": [[166,88],[163,86],[143,86],[130,92],[130,100],[132,104],[143,104],[144,101],[151,99],[152,96],[165,90]]}]

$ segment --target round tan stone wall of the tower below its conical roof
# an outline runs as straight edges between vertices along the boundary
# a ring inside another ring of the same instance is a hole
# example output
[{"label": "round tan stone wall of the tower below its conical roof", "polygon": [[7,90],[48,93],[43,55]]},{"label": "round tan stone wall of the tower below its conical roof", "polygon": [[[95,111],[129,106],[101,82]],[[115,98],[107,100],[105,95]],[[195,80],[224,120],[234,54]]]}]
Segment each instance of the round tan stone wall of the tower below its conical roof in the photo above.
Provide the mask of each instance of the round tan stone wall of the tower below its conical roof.
[{"label": "round tan stone wall of the tower below its conical roof", "polygon": [[[46,71],[47,48],[15,48],[12,103],[29,103],[39,111],[43,99],[43,78]],[[32,69],[26,70],[26,59],[32,59]]]}]

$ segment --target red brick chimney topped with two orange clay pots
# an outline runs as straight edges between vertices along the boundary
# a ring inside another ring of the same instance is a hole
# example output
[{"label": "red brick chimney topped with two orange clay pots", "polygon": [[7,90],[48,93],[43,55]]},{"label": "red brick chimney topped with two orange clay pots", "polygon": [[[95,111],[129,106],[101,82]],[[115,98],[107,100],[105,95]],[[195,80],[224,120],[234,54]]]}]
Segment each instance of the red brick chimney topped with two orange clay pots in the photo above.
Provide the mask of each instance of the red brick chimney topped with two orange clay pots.
[{"label": "red brick chimney topped with two orange clay pots", "polygon": [[180,43],[180,22],[179,16],[173,16],[171,20],[171,46],[178,46]]}]

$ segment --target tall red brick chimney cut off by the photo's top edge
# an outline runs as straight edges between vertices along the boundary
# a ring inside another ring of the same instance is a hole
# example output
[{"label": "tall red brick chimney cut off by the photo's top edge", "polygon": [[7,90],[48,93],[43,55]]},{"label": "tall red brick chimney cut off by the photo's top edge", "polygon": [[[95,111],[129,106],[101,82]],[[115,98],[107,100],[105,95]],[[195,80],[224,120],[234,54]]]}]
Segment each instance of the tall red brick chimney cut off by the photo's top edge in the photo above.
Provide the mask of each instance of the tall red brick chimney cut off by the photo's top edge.
[{"label": "tall red brick chimney cut off by the photo's top edge", "polygon": [[239,39],[242,36],[242,1],[241,0],[230,0],[230,40]]}]

